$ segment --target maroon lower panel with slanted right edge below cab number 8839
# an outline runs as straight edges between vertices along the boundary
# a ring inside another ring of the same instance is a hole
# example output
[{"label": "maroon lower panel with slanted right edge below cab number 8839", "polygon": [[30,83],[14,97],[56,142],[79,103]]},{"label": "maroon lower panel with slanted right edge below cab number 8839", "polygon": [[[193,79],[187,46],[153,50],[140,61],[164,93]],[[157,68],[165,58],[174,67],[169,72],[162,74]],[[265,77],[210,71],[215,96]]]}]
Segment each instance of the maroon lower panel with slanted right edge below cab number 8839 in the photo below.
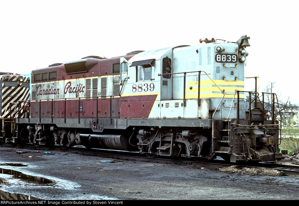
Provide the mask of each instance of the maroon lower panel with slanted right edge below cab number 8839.
[{"label": "maroon lower panel with slanted right edge below cab number 8839", "polygon": [[155,101],[129,102],[128,118],[148,118]]}]

